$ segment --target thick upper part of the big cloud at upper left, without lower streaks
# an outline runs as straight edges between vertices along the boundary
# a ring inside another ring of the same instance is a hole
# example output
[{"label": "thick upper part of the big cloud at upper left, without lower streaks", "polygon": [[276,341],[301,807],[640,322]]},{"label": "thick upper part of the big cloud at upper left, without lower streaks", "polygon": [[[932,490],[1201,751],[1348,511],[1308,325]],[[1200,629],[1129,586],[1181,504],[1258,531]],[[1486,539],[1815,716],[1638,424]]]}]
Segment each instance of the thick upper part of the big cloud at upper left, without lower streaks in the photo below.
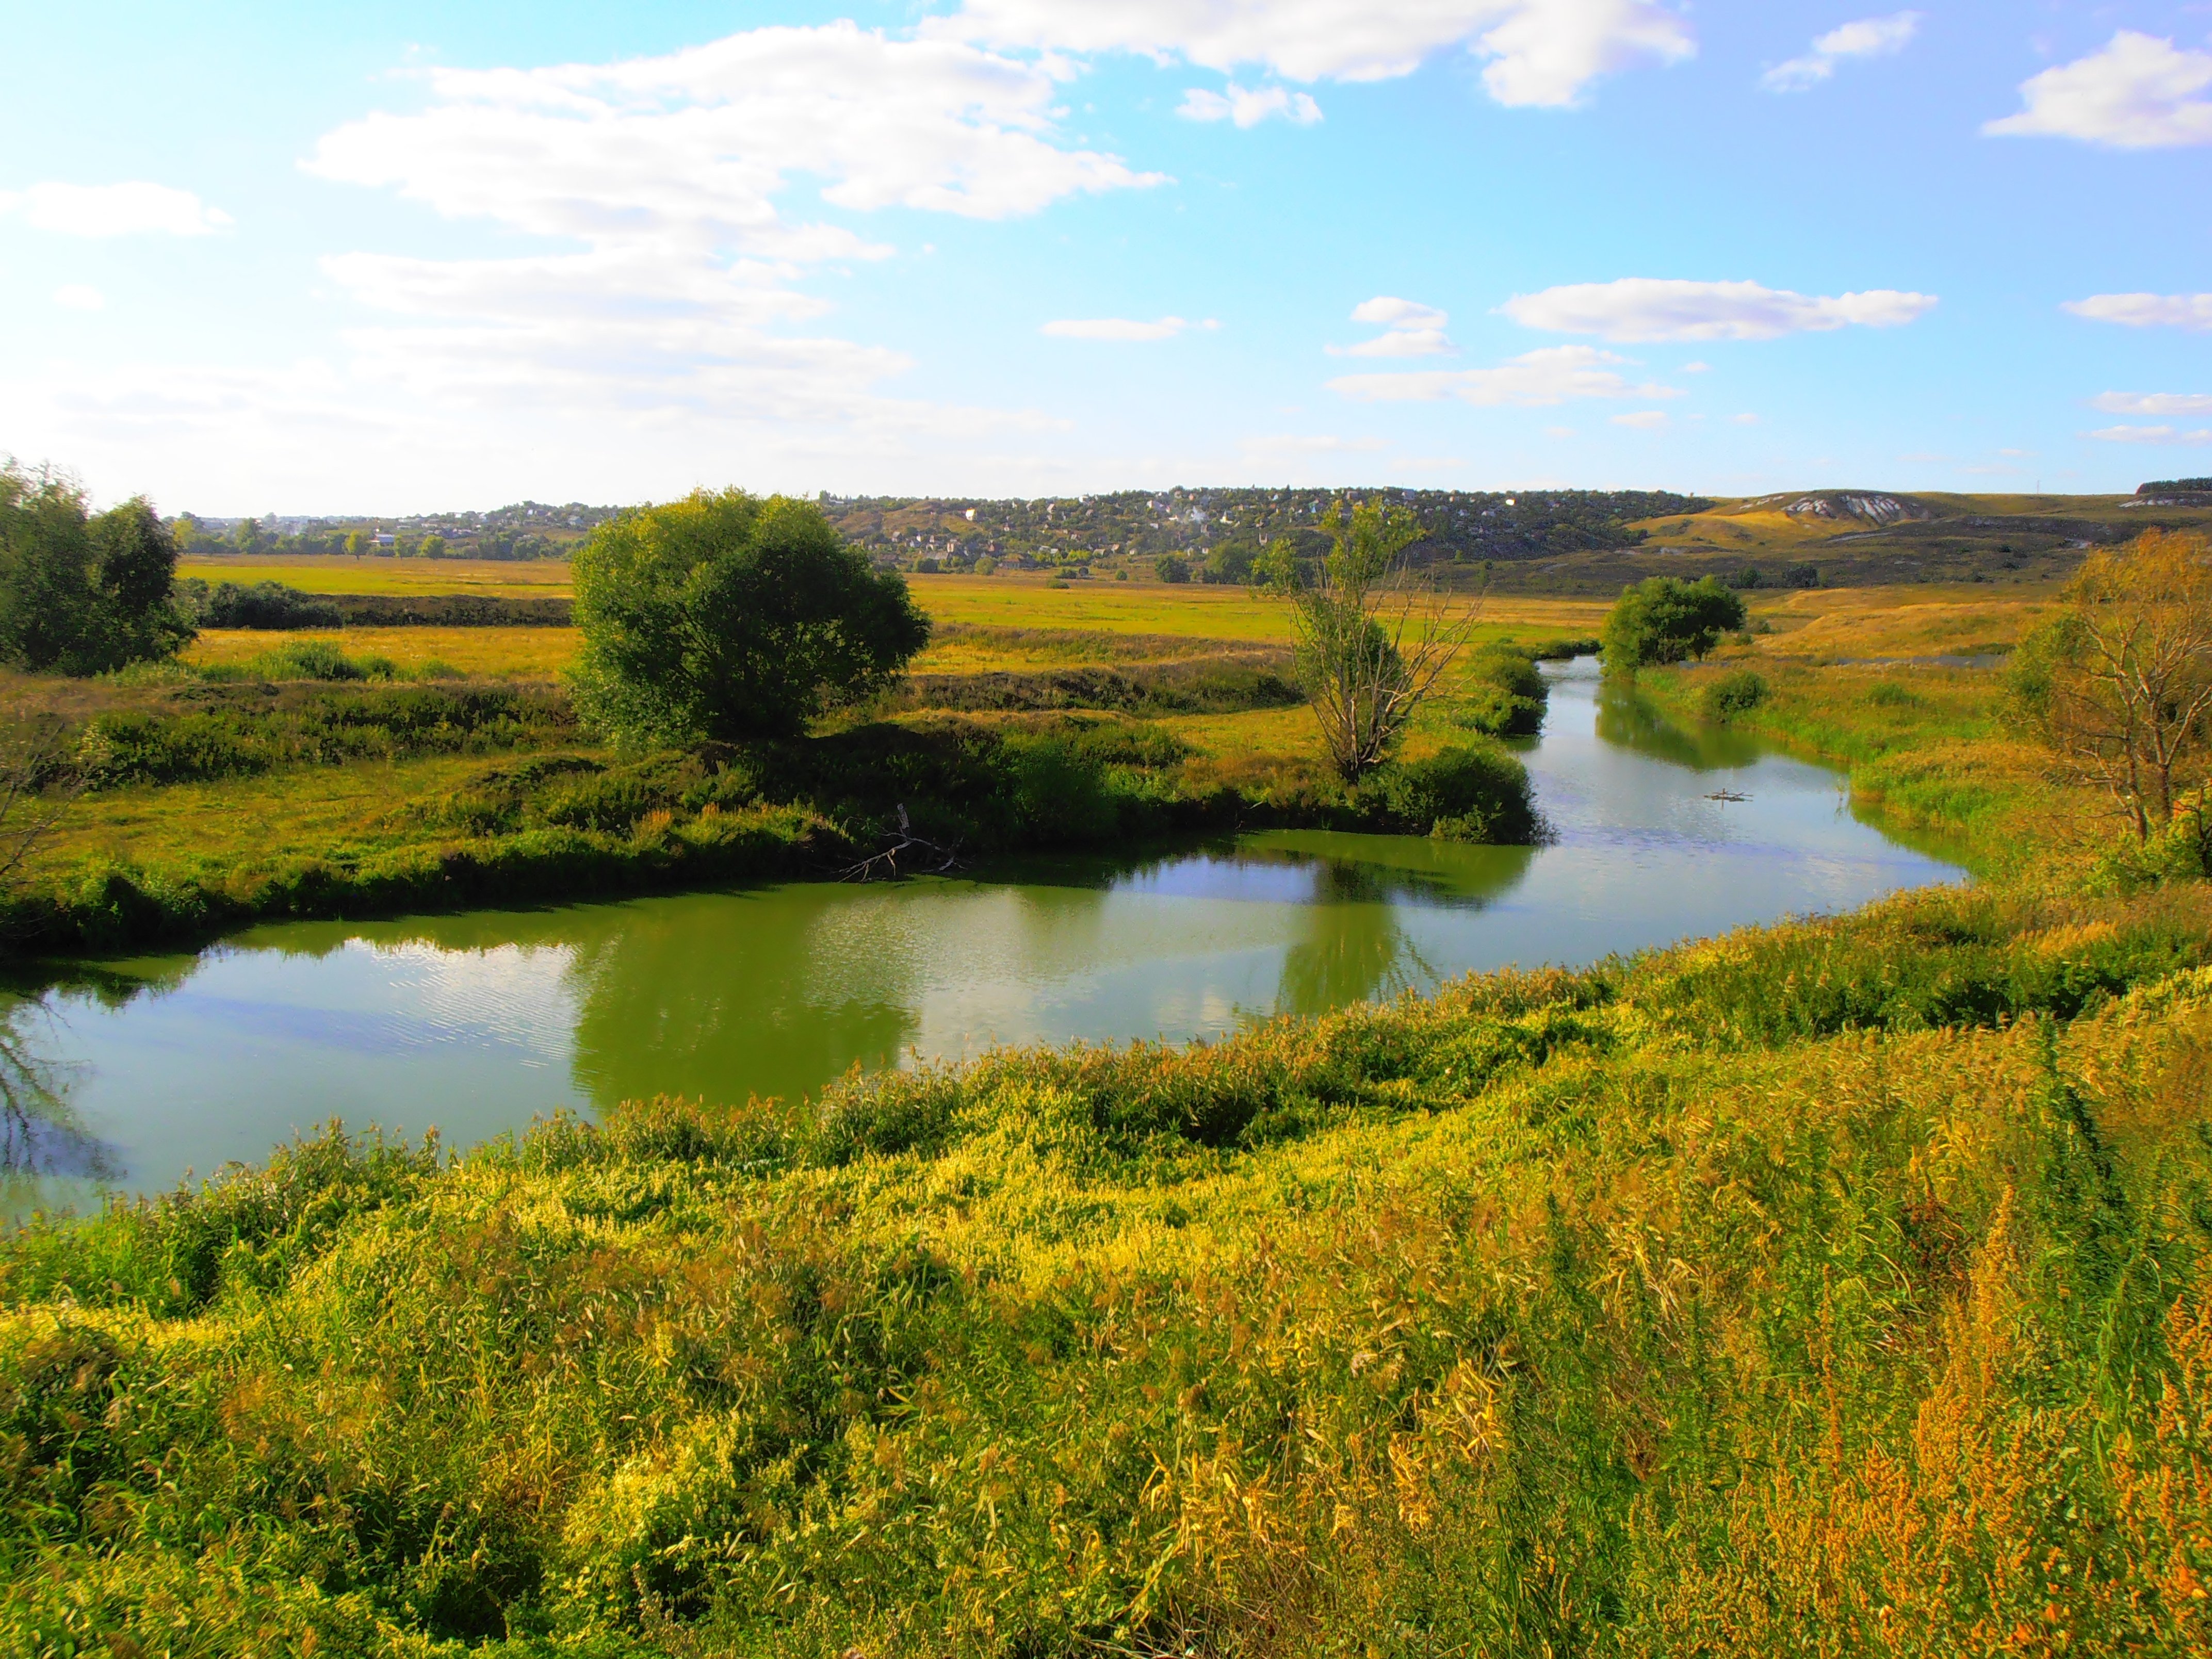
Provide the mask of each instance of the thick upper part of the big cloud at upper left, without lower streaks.
[{"label": "thick upper part of the big cloud at upper left, without lower streaks", "polygon": [[852,232],[783,221],[774,197],[792,175],[827,179],[821,195],[841,208],[969,219],[1164,181],[1053,142],[1048,64],[849,22],[617,64],[438,69],[429,84],[427,111],[341,126],[307,170],[449,219],[790,259],[860,250]]}]

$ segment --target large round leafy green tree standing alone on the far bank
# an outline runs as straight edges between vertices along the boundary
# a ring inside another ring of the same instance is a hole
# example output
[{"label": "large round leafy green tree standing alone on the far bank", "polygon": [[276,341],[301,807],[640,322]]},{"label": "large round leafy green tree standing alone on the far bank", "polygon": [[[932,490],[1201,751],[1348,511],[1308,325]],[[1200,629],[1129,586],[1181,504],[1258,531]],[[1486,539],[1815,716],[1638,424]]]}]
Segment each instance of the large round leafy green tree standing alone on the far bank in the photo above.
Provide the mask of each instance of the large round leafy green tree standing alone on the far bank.
[{"label": "large round leafy green tree standing alone on the far bank", "polygon": [[796,737],[929,644],[905,577],[814,502],[741,489],[608,520],[575,555],[577,710],[639,743]]}]

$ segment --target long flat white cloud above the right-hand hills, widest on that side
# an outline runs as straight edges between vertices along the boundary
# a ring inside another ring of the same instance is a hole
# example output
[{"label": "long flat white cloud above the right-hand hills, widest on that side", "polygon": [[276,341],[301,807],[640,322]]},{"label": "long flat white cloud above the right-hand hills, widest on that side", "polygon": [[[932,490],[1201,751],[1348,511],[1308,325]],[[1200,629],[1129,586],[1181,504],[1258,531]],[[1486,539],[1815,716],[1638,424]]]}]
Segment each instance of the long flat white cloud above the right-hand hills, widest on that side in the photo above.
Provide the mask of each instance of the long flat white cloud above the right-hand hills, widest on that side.
[{"label": "long flat white cloud above the right-hand hills, widest on that side", "polygon": [[1924,316],[1933,294],[1876,288],[1865,294],[1807,296],[1759,283],[1688,283],[1624,276],[1515,294],[1502,310],[1522,327],[1597,334],[1608,341],[1772,341],[1847,325],[1898,327]]}]

